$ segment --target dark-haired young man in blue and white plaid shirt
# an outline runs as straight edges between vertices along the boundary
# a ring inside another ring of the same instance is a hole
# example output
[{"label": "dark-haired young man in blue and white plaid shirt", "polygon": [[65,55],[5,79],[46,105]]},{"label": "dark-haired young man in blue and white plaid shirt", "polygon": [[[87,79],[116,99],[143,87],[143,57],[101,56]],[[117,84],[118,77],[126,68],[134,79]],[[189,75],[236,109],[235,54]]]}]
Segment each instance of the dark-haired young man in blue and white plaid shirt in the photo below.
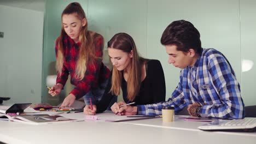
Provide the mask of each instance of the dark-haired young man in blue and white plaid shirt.
[{"label": "dark-haired young man in blue and white plaid shirt", "polygon": [[217,50],[202,49],[200,33],[192,23],[172,22],[161,44],[169,55],[168,63],[182,69],[172,97],[156,104],[120,107],[118,115],[161,115],[163,106],[174,105],[175,113],[188,106],[191,116],[245,117],[240,85],[228,59]]}]

